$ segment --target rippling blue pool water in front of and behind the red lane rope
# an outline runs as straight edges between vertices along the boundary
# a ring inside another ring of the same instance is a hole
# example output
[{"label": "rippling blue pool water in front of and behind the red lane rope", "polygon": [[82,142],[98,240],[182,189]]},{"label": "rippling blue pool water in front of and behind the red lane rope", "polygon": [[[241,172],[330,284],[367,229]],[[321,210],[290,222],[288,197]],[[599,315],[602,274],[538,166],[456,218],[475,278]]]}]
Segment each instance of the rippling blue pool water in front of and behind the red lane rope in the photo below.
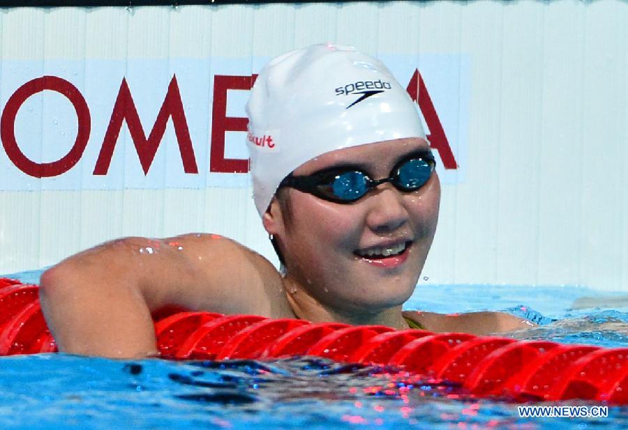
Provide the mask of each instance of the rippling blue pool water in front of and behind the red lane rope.
[{"label": "rippling blue pool water in front of and behind the red lane rope", "polygon": [[[39,275],[10,276],[38,282]],[[419,285],[406,307],[507,310],[539,323],[514,337],[627,346],[628,309],[570,310],[583,297],[606,306],[622,302],[620,295],[571,287]],[[608,417],[598,419],[521,418],[516,404],[456,399],[454,387],[399,381],[390,370],[315,358],[216,363],[6,357],[0,358],[0,429],[628,428],[625,407],[609,408]]]}]

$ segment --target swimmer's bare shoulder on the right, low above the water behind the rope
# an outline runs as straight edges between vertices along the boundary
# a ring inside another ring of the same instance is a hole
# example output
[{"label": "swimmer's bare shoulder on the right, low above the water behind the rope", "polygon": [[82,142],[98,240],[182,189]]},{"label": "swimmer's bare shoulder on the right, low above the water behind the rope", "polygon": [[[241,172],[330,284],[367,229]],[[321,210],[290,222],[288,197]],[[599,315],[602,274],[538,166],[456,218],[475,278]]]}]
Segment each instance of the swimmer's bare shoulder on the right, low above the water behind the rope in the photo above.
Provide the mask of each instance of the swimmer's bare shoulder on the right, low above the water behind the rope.
[{"label": "swimmer's bare shoulder on the right, low above the water behind the rope", "polygon": [[435,312],[404,312],[404,316],[431,332],[462,332],[472,335],[514,332],[535,326],[525,318],[505,312],[469,312],[467,314],[437,314]]}]

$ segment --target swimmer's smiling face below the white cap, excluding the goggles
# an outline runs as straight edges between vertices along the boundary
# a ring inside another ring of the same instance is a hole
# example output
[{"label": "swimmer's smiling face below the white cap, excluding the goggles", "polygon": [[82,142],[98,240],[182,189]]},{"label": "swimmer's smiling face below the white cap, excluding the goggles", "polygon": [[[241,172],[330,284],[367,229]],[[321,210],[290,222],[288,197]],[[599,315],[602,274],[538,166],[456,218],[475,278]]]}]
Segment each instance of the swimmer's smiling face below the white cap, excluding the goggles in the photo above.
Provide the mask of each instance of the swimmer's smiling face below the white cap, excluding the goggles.
[{"label": "swimmer's smiling face below the white cap, excluding the goggles", "polygon": [[[405,155],[425,148],[424,139],[410,138],[339,149],[302,164],[294,176],[352,164],[371,178],[385,178]],[[305,293],[339,314],[375,314],[408,300],[438,221],[435,173],[417,191],[384,183],[351,204],[292,188],[281,192],[289,204],[274,199],[264,226],[281,243],[293,300]]]}]

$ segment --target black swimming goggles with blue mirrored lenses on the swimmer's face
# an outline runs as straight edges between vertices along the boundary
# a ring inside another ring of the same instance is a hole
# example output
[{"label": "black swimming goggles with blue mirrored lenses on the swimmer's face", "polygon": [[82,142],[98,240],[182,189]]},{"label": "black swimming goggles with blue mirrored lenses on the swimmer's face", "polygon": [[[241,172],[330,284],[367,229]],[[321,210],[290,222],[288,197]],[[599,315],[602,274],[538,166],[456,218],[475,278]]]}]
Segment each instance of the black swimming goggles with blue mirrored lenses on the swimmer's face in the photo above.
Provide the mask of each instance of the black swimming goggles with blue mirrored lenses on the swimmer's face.
[{"label": "black swimming goggles with blue mirrored lenses on the swimmer's face", "polygon": [[361,199],[375,187],[391,183],[397,190],[419,190],[428,181],[436,162],[430,152],[412,153],[398,162],[388,178],[371,179],[366,172],[346,166],[332,167],[308,176],[286,176],[279,187],[292,187],[320,199],[347,204]]}]

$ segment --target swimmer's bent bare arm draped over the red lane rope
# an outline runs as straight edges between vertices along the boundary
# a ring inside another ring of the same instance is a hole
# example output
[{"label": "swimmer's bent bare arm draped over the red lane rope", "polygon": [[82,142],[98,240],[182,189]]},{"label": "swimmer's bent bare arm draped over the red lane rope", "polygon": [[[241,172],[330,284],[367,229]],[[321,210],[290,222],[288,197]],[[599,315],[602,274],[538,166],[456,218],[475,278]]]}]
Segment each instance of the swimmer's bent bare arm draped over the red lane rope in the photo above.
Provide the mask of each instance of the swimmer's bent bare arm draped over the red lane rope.
[{"label": "swimmer's bent bare arm draped over the red lane rope", "polygon": [[274,267],[215,235],[115,240],[50,268],[40,285],[61,351],[118,358],[156,353],[151,312],[165,305],[269,316],[287,307]]}]

